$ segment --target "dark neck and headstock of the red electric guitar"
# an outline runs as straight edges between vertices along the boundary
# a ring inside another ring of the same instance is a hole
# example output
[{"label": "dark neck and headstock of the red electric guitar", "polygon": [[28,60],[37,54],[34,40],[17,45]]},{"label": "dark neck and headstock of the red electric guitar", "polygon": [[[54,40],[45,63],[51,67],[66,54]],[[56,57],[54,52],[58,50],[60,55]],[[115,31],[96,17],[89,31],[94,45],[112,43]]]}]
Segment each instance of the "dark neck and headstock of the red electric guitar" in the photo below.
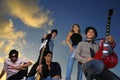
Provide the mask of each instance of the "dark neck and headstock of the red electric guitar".
[{"label": "dark neck and headstock of the red electric guitar", "polygon": [[113,15],[113,11],[114,11],[113,9],[110,9],[108,13],[106,36],[110,35],[111,16]]}]

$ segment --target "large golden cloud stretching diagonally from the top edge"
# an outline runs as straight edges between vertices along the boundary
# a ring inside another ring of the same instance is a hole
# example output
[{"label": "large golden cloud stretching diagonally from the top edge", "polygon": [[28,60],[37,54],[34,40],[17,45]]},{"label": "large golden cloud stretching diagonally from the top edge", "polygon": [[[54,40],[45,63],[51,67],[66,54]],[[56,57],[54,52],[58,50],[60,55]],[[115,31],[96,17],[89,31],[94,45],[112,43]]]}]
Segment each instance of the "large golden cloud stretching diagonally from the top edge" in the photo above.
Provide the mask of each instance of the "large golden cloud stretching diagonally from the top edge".
[{"label": "large golden cloud stretching diagonally from the top edge", "polygon": [[4,0],[4,2],[9,15],[19,18],[30,27],[41,28],[44,24],[53,25],[53,19],[50,18],[51,12],[44,11],[43,7],[38,6],[38,1]]}]

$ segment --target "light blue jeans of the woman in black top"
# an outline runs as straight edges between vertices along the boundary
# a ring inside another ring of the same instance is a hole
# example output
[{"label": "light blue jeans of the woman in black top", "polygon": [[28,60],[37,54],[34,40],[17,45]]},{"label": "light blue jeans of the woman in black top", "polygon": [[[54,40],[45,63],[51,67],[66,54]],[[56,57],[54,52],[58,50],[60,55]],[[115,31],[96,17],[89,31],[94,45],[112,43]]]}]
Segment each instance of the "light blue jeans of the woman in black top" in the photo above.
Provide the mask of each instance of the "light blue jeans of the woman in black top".
[{"label": "light blue jeans of the woman in black top", "polygon": [[[74,48],[76,48],[76,46],[74,46]],[[75,50],[70,52],[70,57],[68,59],[68,63],[67,63],[67,69],[66,69],[66,80],[70,80],[71,79],[71,73],[73,70],[73,64],[75,62]],[[82,70],[81,70],[81,64],[78,64],[78,77],[77,80],[82,80]]]}]

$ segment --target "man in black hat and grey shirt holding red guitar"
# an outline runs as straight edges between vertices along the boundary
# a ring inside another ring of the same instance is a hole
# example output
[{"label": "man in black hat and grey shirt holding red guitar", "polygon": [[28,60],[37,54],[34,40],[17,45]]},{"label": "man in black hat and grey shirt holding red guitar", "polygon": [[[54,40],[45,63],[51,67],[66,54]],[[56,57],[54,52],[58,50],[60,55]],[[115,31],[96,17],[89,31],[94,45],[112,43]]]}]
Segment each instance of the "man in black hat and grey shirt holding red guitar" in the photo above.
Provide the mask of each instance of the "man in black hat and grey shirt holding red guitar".
[{"label": "man in black hat and grey shirt holding red guitar", "polygon": [[[102,60],[94,59],[95,53],[99,50],[99,45],[94,42],[97,31],[94,27],[87,27],[85,30],[86,41],[80,42],[75,51],[75,58],[82,63],[83,71],[87,80],[119,80],[114,73],[105,69]],[[107,36],[109,43],[114,43],[112,36]]]}]

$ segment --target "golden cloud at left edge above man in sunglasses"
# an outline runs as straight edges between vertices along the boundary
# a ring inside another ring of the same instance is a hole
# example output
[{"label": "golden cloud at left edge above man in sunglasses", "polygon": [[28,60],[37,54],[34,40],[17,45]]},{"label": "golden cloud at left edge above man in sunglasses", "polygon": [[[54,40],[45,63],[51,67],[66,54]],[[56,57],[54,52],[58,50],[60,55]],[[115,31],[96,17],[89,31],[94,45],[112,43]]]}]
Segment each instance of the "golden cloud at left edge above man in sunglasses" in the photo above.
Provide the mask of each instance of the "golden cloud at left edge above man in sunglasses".
[{"label": "golden cloud at left edge above man in sunglasses", "polygon": [[[3,18],[0,20],[0,49],[4,53],[8,53],[16,45],[25,44],[24,36],[25,32],[16,31],[12,20],[7,20]],[[23,42],[22,42],[23,41]],[[20,43],[21,44],[18,44]]]}]

